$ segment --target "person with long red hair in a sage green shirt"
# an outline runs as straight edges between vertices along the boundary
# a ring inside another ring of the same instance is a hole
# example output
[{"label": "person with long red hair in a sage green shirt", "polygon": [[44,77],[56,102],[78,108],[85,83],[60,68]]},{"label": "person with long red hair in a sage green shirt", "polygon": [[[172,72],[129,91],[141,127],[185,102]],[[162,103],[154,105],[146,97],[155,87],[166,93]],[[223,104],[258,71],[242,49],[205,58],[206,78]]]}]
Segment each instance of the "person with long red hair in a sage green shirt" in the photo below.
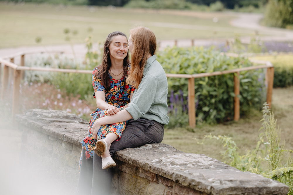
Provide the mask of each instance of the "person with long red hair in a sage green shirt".
[{"label": "person with long red hair in a sage green shirt", "polygon": [[[125,148],[160,143],[164,136],[164,125],[169,122],[167,77],[160,63],[156,61],[154,33],[146,27],[134,28],[130,30],[128,44],[131,68],[126,81],[135,87],[132,99],[124,110],[98,118],[91,129],[96,137],[103,125],[128,120],[121,139],[113,141],[110,146],[111,156]],[[100,145],[98,150],[101,153],[104,148],[109,147],[107,142]],[[101,169],[101,163],[102,159],[94,153],[93,161],[81,165],[78,194],[110,194],[112,169]]]}]

